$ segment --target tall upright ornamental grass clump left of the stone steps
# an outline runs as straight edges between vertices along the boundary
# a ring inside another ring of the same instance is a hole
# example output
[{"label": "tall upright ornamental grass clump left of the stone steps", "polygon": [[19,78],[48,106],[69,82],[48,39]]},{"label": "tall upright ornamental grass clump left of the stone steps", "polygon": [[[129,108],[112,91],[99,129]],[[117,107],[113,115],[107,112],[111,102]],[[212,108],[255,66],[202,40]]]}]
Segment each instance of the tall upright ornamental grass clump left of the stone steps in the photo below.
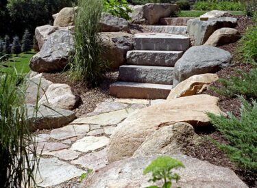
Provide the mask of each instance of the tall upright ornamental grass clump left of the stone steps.
[{"label": "tall upright ornamental grass clump left of the stone steps", "polygon": [[69,75],[75,80],[95,86],[107,68],[101,58],[101,41],[97,34],[103,2],[79,0],[78,6],[79,11],[75,18],[75,54],[70,59]]}]

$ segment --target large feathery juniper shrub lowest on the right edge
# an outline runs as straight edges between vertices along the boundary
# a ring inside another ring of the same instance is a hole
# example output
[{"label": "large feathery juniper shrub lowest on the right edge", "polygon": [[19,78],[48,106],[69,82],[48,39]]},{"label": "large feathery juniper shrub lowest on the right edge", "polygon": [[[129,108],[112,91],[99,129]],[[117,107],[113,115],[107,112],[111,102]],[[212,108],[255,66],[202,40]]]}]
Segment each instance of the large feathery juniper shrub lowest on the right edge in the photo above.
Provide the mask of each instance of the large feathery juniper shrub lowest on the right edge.
[{"label": "large feathery juniper shrub lowest on the right edge", "polygon": [[208,113],[210,122],[228,140],[229,144],[218,144],[230,159],[244,170],[257,172],[257,102],[252,105],[241,98],[241,118],[231,113],[228,118]]}]

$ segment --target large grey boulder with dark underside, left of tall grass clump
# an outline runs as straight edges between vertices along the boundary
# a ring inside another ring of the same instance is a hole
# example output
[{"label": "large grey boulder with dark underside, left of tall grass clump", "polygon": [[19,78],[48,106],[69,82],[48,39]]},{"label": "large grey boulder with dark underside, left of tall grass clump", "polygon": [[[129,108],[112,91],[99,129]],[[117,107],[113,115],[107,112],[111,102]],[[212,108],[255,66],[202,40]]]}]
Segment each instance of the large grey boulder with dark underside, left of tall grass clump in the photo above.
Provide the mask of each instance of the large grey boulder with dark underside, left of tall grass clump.
[{"label": "large grey boulder with dark underside, left of tall grass clump", "polygon": [[30,59],[29,66],[36,72],[62,71],[68,64],[69,54],[74,49],[71,31],[59,30],[51,33],[40,52]]}]

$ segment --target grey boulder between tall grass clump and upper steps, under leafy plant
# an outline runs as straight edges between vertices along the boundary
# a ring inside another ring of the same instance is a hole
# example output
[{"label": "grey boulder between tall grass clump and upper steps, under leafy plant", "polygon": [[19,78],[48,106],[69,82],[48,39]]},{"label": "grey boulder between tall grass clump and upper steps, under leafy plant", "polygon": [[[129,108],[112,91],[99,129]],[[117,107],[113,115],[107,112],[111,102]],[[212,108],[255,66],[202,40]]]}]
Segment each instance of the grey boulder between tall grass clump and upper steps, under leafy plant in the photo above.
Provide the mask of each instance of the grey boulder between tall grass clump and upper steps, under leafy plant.
[{"label": "grey boulder between tall grass clump and upper steps, under leafy plant", "polygon": [[124,18],[112,16],[108,13],[101,14],[100,20],[101,32],[119,32],[128,31],[128,22]]}]

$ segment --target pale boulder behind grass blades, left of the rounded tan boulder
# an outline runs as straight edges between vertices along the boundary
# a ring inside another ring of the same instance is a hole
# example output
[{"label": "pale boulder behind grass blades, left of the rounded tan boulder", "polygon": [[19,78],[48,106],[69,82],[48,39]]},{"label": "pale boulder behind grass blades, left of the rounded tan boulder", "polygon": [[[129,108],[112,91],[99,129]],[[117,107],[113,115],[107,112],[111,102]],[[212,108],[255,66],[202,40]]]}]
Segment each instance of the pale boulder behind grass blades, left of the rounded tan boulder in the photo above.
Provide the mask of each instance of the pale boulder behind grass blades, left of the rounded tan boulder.
[{"label": "pale boulder behind grass blades, left of the rounded tan boulder", "polygon": [[42,77],[42,73],[27,80],[25,103],[35,104],[49,88],[52,82]]}]

